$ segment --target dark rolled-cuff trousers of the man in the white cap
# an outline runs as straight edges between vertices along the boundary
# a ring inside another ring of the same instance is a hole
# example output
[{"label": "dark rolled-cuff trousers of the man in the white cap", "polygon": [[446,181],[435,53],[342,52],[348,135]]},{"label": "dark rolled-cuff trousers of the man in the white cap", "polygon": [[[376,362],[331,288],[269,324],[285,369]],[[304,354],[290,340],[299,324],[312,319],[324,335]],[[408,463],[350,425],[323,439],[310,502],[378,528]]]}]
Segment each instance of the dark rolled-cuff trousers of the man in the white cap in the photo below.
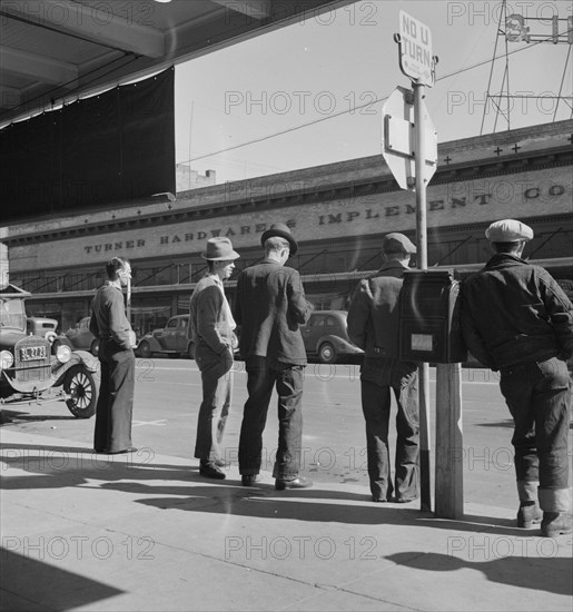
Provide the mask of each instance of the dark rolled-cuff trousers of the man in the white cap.
[{"label": "dark rolled-cuff trousers of the man in the white cap", "polygon": [[565,362],[552,358],[501,368],[500,388],[515,424],[517,481],[541,488],[567,488],[571,378]]}]

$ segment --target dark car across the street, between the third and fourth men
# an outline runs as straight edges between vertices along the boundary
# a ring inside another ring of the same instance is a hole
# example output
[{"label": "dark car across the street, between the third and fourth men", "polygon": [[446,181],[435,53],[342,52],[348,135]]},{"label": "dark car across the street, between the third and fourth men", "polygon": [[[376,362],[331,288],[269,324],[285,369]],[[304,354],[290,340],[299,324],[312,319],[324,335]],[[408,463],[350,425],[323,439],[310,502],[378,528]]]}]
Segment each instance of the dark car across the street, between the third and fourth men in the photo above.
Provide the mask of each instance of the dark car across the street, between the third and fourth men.
[{"label": "dark car across the street, between the third and fourth men", "polygon": [[364,351],[350,342],[346,328],[346,310],[314,310],[300,326],[308,357],[334,364],[339,357],[362,356]]}]

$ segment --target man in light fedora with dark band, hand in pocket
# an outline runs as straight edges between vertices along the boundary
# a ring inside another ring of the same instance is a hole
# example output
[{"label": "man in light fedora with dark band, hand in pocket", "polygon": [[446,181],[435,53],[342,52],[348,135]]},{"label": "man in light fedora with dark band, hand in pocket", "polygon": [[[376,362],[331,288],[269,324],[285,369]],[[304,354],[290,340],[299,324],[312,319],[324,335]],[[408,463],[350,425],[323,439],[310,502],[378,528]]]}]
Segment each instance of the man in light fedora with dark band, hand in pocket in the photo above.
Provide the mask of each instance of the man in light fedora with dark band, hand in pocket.
[{"label": "man in light fedora with dark band, hand in pocket", "polygon": [[231,275],[239,254],[233,250],[228,238],[209,238],[201,257],[208,267],[191,295],[188,328],[202,383],[195,456],[201,476],[223,480],[225,460],[220,444],[233,392],[230,369],[236,327],[223,282]]}]

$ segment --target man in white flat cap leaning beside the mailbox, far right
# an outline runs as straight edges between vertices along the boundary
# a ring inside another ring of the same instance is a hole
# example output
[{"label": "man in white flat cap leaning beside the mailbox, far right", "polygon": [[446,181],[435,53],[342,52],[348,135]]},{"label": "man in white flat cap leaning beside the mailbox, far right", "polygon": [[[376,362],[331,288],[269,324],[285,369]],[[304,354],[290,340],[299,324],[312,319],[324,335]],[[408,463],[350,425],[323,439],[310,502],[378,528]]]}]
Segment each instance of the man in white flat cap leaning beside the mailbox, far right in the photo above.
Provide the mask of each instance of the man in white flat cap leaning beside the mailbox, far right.
[{"label": "man in white flat cap leaning beside the mailbox, far right", "polygon": [[573,305],[545,269],[522,259],[531,227],[503,219],[485,236],[495,255],[462,286],[464,340],[483,365],[500,372],[513,416],[517,526],[541,521],[542,535],[554,537],[572,531],[565,361],[573,354]]}]

